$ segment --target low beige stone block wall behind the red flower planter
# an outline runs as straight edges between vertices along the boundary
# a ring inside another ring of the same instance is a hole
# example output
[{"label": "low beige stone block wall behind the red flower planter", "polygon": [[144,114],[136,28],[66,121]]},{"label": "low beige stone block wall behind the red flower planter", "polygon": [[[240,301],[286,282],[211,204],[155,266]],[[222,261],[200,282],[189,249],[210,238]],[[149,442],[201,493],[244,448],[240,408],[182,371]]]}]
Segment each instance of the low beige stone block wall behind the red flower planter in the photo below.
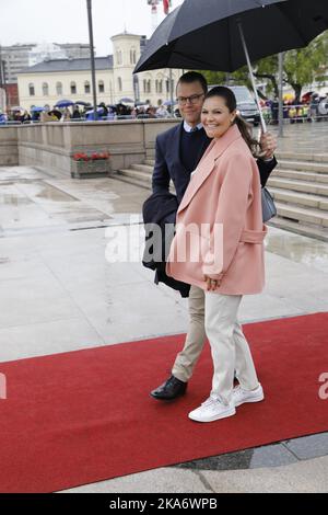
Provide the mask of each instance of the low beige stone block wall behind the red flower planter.
[{"label": "low beige stone block wall behind the red flower planter", "polygon": [[[108,150],[112,153],[114,170],[129,168],[132,163],[153,158],[157,134],[176,123],[178,121],[166,119],[50,122],[22,125],[8,130],[15,131],[16,140],[13,140],[12,152],[16,145],[20,164],[57,170],[70,176],[72,154],[78,151]],[[0,127],[0,141],[1,133]]]}]

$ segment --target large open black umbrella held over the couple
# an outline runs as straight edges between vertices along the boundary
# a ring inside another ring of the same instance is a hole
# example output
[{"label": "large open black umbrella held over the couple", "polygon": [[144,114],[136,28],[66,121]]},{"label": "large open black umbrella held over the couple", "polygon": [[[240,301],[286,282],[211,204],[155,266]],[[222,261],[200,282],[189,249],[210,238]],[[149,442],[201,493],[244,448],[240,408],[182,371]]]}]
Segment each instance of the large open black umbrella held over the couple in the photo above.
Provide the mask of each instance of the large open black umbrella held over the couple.
[{"label": "large open black umbrella held over the couple", "polygon": [[[154,32],[134,73],[159,68],[232,72],[247,64],[259,105],[248,53],[257,60],[300,48],[327,27],[326,0],[185,0]],[[265,128],[262,117],[261,124]]]}]

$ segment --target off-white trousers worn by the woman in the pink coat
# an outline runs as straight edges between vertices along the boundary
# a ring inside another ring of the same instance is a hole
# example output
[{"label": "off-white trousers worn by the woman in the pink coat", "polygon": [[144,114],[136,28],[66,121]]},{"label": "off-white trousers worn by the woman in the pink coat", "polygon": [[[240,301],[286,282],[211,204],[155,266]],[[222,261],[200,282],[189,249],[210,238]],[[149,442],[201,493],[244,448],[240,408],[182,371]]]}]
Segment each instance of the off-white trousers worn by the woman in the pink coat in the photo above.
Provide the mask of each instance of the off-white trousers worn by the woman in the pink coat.
[{"label": "off-white trousers worn by the woman in the pink coat", "polygon": [[234,386],[234,373],[245,390],[259,386],[247,340],[237,321],[241,295],[204,294],[204,328],[213,358],[211,396],[227,404]]}]

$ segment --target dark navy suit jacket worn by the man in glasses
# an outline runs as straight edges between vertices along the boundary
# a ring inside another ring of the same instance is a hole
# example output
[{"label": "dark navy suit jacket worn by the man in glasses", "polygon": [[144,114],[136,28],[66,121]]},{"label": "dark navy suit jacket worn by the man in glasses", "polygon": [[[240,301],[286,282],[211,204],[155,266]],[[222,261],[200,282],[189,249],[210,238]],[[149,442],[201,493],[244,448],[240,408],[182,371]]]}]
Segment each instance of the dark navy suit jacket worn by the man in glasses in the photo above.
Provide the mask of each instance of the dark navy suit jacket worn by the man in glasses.
[{"label": "dark navy suit jacket worn by the man in glasses", "polygon": [[[186,170],[180,158],[180,138],[184,130],[184,123],[160,134],[156,138],[156,156],[155,167],[152,178],[153,193],[167,192],[169,187],[169,180],[172,179],[178,203],[187,190],[190,181],[190,174],[194,170]],[[197,167],[202,154],[211,142],[207,137],[204,129],[202,145],[199,147],[198,160],[195,164]],[[277,160],[273,158],[271,161],[257,161],[261,185],[265,186],[270,173],[277,165]]]}]

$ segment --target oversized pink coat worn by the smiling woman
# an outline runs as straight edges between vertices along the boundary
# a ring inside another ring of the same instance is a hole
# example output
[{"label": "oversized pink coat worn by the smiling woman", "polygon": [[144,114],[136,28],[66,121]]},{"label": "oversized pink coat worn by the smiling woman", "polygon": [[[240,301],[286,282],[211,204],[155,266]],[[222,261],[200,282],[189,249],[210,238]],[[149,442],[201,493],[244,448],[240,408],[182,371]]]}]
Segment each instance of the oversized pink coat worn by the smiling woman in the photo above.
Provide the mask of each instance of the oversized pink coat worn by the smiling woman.
[{"label": "oversized pink coat worn by the smiling woman", "polygon": [[221,278],[215,291],[226,295],[262,290],[267,227],[262,222],[260,176],[236,125],[208,147],[176,221],[167,275],[204,290],[204,274]]}]

